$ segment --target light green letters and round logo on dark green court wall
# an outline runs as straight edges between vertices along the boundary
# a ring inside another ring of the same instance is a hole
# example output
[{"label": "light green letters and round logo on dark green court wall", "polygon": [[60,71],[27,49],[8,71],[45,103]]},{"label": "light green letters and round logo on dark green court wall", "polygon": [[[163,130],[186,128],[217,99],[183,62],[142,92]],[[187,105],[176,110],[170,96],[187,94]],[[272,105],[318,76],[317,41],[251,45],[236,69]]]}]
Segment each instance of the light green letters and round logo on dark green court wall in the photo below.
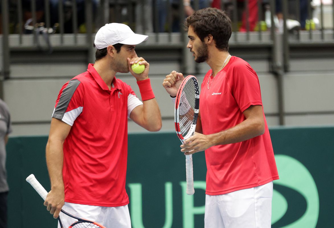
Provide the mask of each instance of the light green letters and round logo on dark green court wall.
[{"label": "light green letters and round logo on dark green court wall", "polygon": [[[319,196],[316,184],[307,168],[295,158],[287,155],[276,155],[276,163],[280,180],[274,181],[275,185],[282,185],[299,192],[307,202],[307,209],[297,221],[284,226],[284,228],[316,227],[319,216]],[[180,182],[180,194],[182,194],[182,222],[183,227],[195,227],[194,215],[204,214],[205,205],[195,207],[194,196],[187,195],[187,183]],[[142,209],[142,184],[133,183],[130,188],[130,212],[133,228],[145,228],[143,224]],[[205,190],[205,181],[195,181],[194,188]],[[279,221],[287,212],[289,202],[284,195],[274,189],[272,224]],[[149,212],[147,212],[149,213]],[[145,215],[144,215],[145,216]],[[173,223],[173,191],[172,183],[165,183],[165,223],[163,228],[171,228]]]}]

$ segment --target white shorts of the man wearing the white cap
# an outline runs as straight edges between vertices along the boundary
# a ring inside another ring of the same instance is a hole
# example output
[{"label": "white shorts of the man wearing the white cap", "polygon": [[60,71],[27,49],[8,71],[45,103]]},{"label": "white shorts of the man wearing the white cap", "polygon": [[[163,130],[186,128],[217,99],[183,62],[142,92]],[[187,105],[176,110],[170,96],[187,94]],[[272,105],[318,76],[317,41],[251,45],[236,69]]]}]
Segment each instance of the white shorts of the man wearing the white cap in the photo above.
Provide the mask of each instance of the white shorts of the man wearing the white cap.
[{"label": "white shorts of the man wearing the white cap", "polygon": [[[107,228],[131,228],[128,205],[121,207],[101,207],[65,202],[62,209],[76,217],[95,221]],[[61,212],[59,215],[64,228],[69,227],[73,222],[77,221]],[[59,222],[58,228],[60,228]]]}]

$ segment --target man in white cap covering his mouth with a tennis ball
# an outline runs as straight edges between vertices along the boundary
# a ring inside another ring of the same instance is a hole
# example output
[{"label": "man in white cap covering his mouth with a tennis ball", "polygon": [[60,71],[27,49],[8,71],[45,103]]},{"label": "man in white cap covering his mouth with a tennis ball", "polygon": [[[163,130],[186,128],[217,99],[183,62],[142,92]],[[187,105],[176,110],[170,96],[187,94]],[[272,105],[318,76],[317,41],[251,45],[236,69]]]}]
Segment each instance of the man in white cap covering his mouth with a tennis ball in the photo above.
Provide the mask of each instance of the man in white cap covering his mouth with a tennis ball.
[{"label": "man in white cap covering his mouth with a tennis ball", "polygon": [[[149,131],[161,129],[149,63],[135,51],[147,38],[125,24],[106,24],[95,36],[95,64],[61,88],[46,145],[51,191],[44,205],[54,218],[63,208],[108,228],[131,227],[125,191],[127,121]],[[141,74],[131,69],[138,62],[145,65]],[[142,101],[115,77],[118,72],[136,78]],[[64,227],[75,221],[61,217]]]}]

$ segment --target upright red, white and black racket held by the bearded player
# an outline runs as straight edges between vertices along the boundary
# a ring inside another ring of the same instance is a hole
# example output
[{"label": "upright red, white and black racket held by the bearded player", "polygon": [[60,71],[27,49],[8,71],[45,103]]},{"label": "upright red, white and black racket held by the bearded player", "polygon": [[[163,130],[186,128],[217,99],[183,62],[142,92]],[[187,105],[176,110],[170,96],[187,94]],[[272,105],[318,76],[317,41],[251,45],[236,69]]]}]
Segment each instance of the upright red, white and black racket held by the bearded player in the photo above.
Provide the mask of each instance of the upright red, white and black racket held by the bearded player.
[{"label": "upright red, white and black racket held by the bearded player", "polygon": [[[194,135],[199,111],[199,87],[195,76],[187,76],[177,91],[175,101],[175,130],[184,143],[184,140]],[[194,177],[192,154],[186,155],[187,194],[192,195],[194,190]]]}]

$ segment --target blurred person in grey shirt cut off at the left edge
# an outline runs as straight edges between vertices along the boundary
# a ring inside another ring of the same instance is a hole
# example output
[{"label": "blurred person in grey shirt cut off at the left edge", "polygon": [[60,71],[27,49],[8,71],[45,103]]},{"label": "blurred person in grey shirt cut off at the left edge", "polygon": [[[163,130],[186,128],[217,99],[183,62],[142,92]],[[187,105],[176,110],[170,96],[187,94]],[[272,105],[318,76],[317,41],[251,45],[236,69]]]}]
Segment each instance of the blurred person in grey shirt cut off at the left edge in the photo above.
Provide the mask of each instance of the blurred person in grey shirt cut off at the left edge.
[{"label": "blurred person in grey shirt cut off at the left edge", "polygon": [[8,134],[12,131],[7,104],[0,99],[0,228],[7,228],[7,172],[6,144]]}]

